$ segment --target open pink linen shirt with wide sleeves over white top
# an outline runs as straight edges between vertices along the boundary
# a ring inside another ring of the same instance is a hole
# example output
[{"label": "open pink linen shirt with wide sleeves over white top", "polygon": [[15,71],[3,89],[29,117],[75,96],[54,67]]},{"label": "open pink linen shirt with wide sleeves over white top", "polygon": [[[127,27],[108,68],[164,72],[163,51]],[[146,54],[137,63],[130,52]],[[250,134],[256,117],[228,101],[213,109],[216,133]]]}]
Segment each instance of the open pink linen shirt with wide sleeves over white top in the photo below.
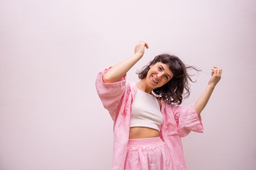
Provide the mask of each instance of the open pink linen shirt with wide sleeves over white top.
[{"label": "open pink linen shirt with wide sleeves over white top", "polygon": [[[110,67],[111,68],[111,67]],[[136,83],[126,81],[124,75],[115,83],[104,83],[102,76],[109,70],[101,71],[96,78],[96,89],[105,109],[114,121],[114,143],[112,170],[124,170],[130,131],[132,99],[137,92]],[[171,155],[173,170],[186,170],[181,137],[191,131],[204,132],[201,116],[195,111],[195,104],[181,107],[169,105],[161,100],[164,122],[159,126],[159,137],[166,143]]]}]

